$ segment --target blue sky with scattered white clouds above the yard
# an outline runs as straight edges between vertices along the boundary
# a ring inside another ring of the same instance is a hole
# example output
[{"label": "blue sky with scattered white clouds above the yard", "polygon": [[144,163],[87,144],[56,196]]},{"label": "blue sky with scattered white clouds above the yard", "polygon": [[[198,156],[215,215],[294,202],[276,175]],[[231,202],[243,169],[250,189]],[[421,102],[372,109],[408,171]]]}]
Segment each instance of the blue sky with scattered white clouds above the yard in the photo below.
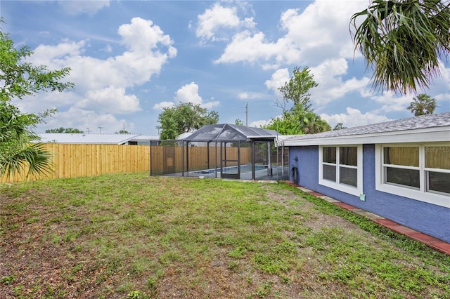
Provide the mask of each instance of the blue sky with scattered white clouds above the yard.
[{"label": "blue sky with scattered white clouds above the yard", "polygon": [[[269,124],[278,88],[308,67],[311,107],[333,128],[413,117],[416,94],[373,89],[349,27],[369,0],[0,1],[1,25],[33,65],[70,67],[75,88],[15,101],[24,112],[56,108],[36,128],[158,134],[165,107],[193,102],[219,124]],[[430,88],[435,113],[450,111],[450,60]]]}]

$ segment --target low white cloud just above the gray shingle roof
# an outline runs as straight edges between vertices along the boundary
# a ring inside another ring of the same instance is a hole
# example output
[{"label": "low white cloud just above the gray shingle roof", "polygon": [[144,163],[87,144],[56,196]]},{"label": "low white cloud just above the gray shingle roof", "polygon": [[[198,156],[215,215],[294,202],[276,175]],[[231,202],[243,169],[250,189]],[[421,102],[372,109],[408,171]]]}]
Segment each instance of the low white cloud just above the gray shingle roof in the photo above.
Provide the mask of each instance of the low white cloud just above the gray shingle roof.
[{"label": "low white cloud just above the gray shingle roof", "polygon": [[377,124],[383,121],[390,121],[385,115],[375,114],[373,112],[361,113],[359,109],[347,107],[347,114],[320,114],[320,117],[330,124],[333,128],[336,124],[342,123],[347,128],[355,126],[364,126],[366,124]]}]

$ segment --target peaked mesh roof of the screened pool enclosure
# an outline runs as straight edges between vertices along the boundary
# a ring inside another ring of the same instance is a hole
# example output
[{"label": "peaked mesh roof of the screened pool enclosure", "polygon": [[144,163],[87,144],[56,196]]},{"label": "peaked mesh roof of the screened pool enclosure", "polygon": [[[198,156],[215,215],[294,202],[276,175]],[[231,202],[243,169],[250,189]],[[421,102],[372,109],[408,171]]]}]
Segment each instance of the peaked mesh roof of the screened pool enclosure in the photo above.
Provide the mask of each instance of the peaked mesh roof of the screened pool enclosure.
[{"label": "peaked mesh roof of the screened pool enclosure", "polygon": [[237,126],[234,124],[213,124],[199,128],[184,141],[208,142],[208,141],[250,141],[250,140],[274,140],[277,133],[274,130],[254,128],[250,126]]}]

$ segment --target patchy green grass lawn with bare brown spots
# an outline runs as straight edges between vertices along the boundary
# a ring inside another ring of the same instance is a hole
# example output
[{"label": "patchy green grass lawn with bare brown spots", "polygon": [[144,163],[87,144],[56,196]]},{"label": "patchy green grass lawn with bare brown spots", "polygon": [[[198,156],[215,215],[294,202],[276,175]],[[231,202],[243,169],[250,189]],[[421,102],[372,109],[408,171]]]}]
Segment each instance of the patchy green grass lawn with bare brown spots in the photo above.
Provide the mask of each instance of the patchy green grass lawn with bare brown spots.
[{"label": "patchy green grass lawn with bare brown spots", "polygon": [[0,298],[450,298],[450,257],[285,183],[0,186]]}]

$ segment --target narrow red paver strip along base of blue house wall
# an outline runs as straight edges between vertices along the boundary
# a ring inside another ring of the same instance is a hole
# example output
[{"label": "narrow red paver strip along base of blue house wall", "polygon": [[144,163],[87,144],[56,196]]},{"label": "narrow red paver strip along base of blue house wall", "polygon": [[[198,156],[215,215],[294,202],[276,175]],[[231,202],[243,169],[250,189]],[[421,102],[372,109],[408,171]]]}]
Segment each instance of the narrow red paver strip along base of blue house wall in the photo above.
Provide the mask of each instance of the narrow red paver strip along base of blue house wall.
[{"label": "narrow red paver strip along base of blue house wall", "polygon": [[[288,184],[293,185],[293,183],[291,183],[291,182],[288,182]],[[332,199],[331,197],[327,197],[326,195],[323,195],[319,192],[314,192],[312,190],[309,190],[304,187],[300,187],[298,185],[293,185],[293,186],[297,187],[298,189],[302,190],[303,192],[307,192],[311,195],[314,195],[315,197],[319,197],[319,198],[324,199],[332,204],[335,204],[336,206],[345,208],[347,211],[352,211],[359,215],[364,215],[366,218],[369,218],[373,222],[376,222],[379,225],[383,225],[384,227],[387,227],[390,230],[393,230],[394,232],[398,232],[399,234],[404,234],[405,236],[407,236],[411,239],[422,242],[423,244],[435,249],[436,251],[440,251],[442,253],[446,253],[446,254],[450,255],[450,244],[449,243],[446,243],[442,240],[436,239],[435,237],[431,237],[428,234],[423,234],[421,232],[417,232],[416,230],[411,230],[411,228],[405,227],[403,225],[399,225],[397,222],[383,218],[379,215],[375,215],[368,211],[361,210],[361,208],[356,208],[349,204],[345,204],[336,199]]]}]

